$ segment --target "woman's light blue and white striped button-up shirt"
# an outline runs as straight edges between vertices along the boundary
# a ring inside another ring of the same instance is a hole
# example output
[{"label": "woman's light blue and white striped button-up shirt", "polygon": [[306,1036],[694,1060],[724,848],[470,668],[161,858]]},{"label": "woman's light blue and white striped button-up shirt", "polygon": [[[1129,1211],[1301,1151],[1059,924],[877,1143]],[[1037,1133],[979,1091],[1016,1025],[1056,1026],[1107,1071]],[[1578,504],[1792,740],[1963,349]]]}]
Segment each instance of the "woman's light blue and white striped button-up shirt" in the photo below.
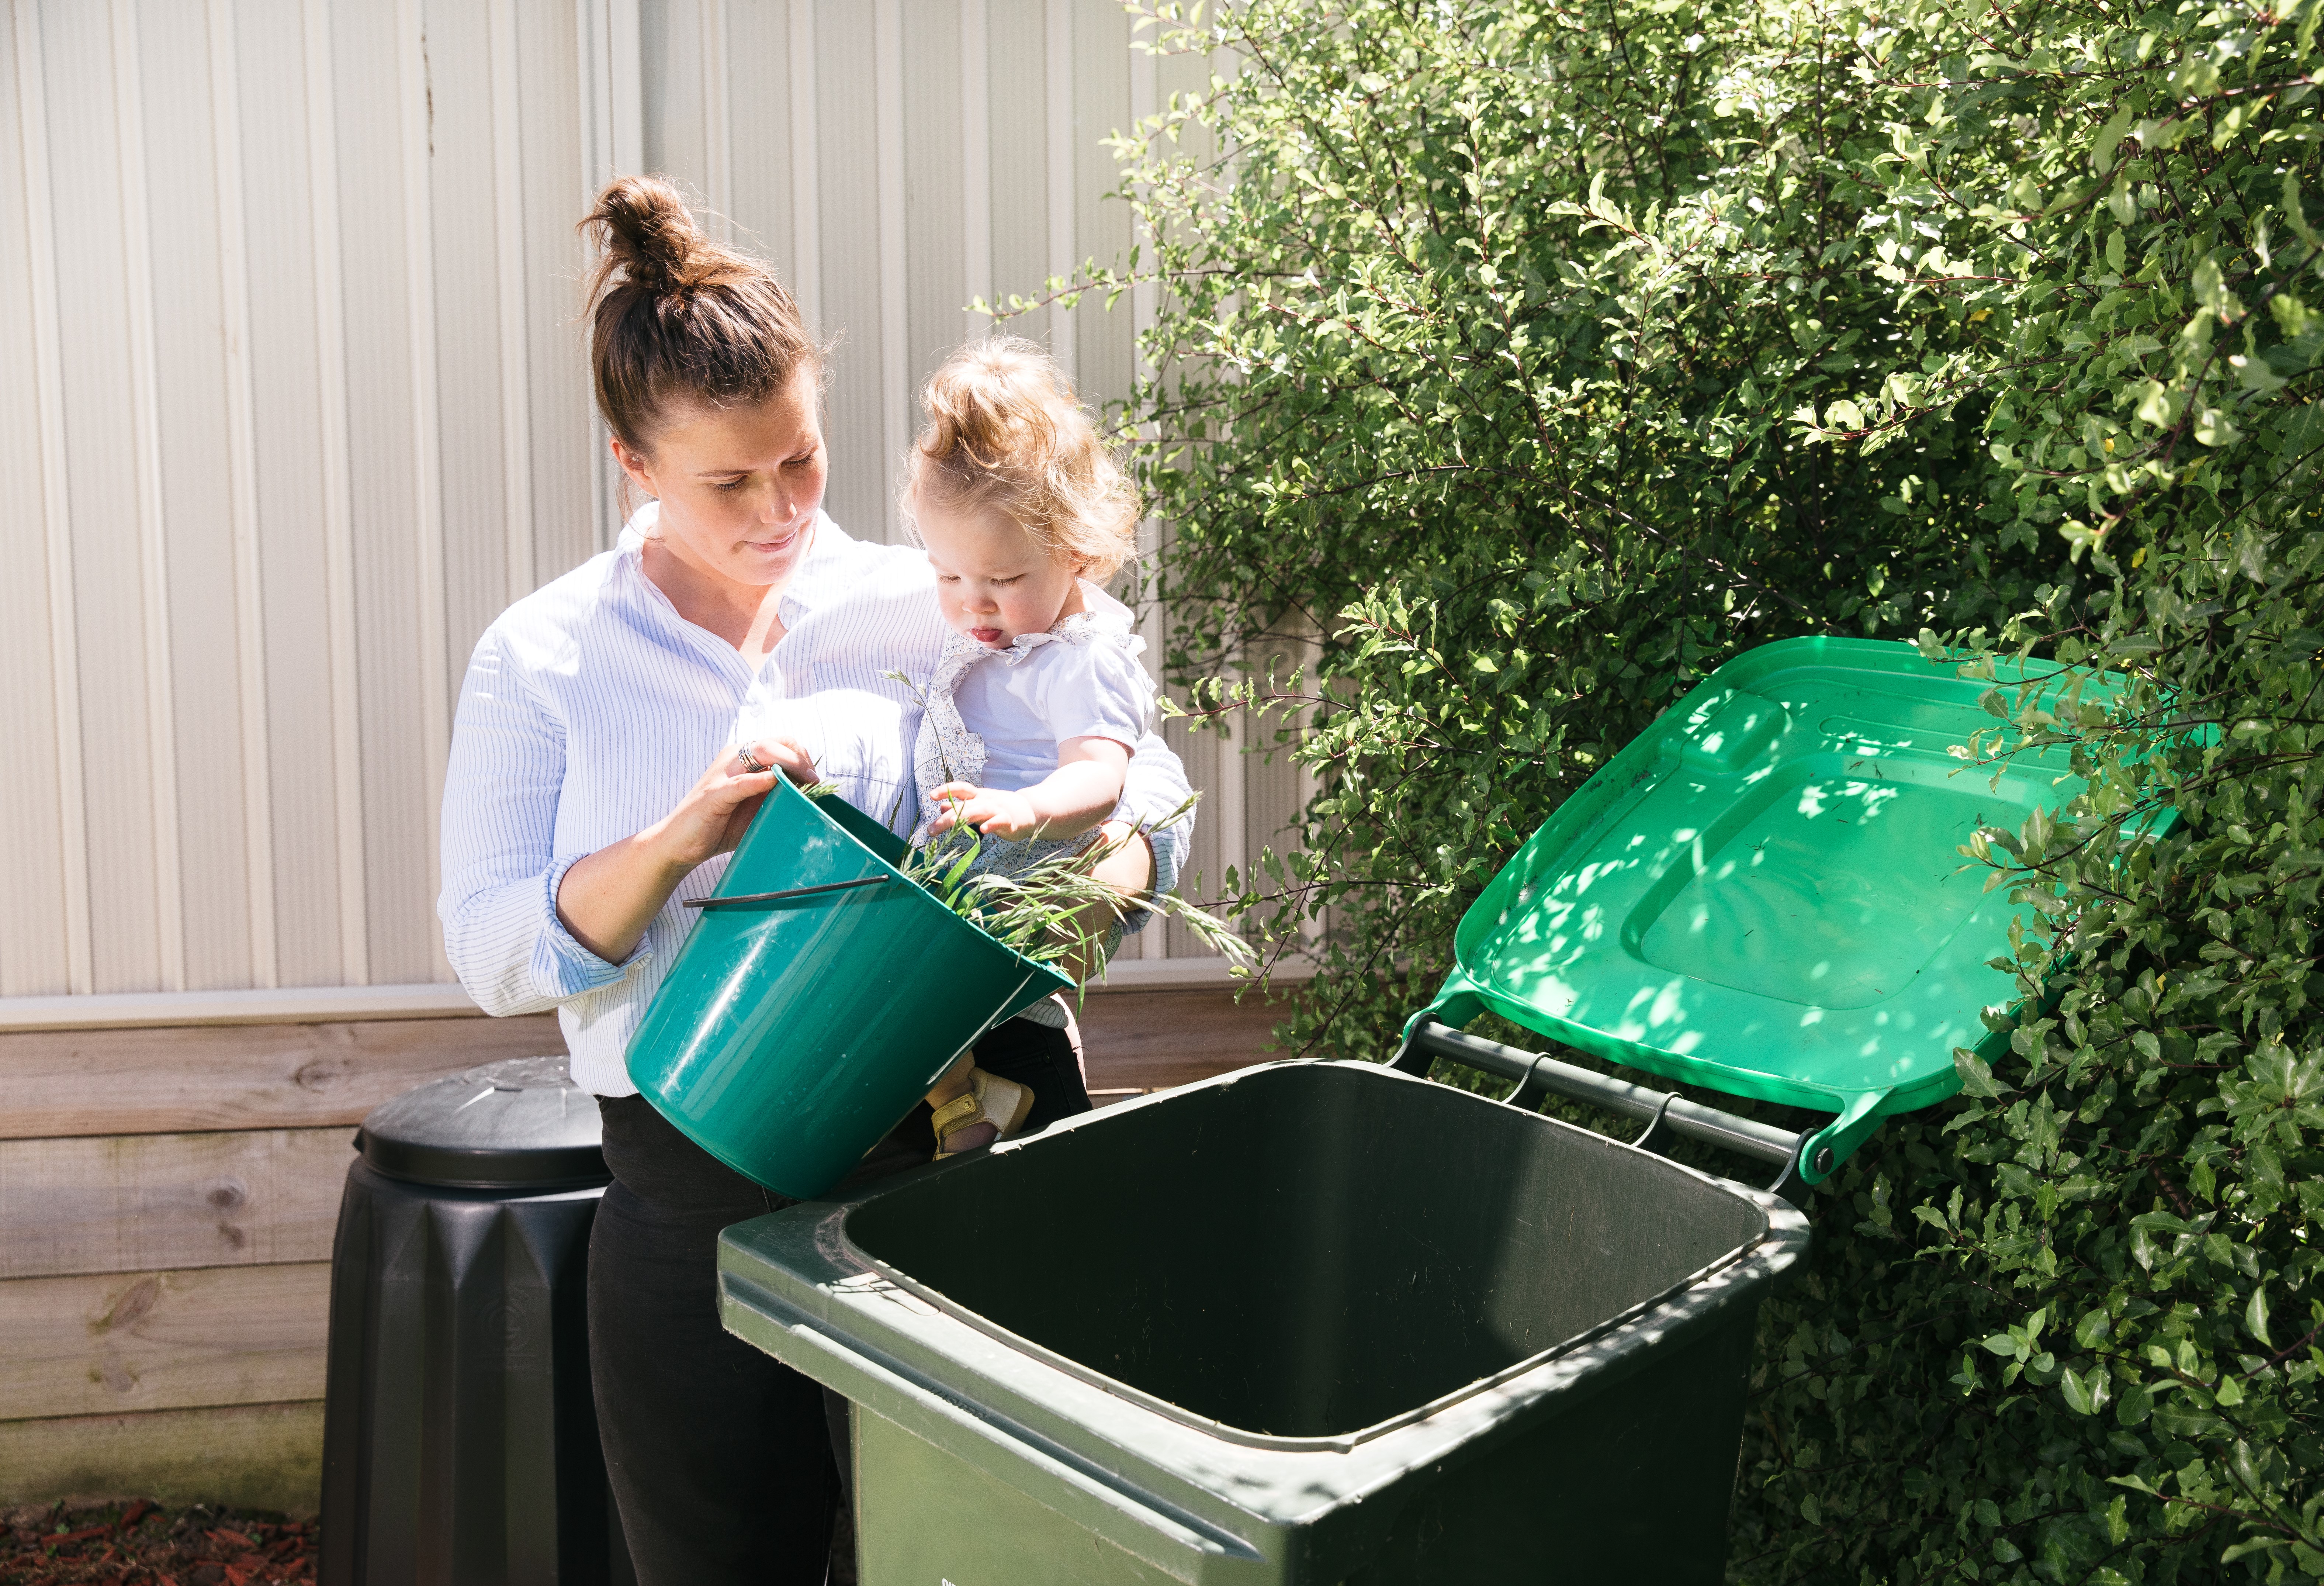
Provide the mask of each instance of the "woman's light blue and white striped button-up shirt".
[{"label": "woman's light blue and white striped button-up shirt", "polygon": [[[574,1081],[597,1095],[637,1093],[623,1049],[693,930],[683,902],[709,895],[727,860],[688,874],[625,963],[558,923],[565,872],[669,814],[739,735],[802,740],[851,805],[909,833],[920,705],[883,674],[925,681],[946,633],[920,551],[851,540],[823,516],[783,591],[783,640],[753,674],[646,577],[639,530],[653,512],[486,628],[444,779],[444,953],[488,1014],[558,1009]],[[1148,735],[1122,805],[1153,821],[1185,795],[1178,758]],[[1162,891],[1190,828],[1153,833]]]}]

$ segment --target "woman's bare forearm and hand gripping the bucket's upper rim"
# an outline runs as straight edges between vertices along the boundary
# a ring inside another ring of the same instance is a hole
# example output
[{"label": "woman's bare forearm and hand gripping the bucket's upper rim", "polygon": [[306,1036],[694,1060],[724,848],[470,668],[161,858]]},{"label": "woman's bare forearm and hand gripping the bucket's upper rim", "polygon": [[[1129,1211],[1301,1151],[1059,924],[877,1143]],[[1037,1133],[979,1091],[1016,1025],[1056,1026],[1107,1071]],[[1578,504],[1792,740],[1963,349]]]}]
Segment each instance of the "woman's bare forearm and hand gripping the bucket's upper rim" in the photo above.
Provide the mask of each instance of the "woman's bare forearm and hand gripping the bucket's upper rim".
[{"label": "woman's bare forearm and hand gripping the bucket's upper rim", "polygon": [[[695,865],[727,853],[751,828],[751,816],[774,791],[776,777],[816,781],[816,763],[790,740],[767,740],[720,753],[702,779],[660,821],[576,860],[558,881],[558,921],[574,942],[607,963],[621,963],[646,940],[646,926],[669,902]],[[760,770],[751,770],[755,763]]]}]

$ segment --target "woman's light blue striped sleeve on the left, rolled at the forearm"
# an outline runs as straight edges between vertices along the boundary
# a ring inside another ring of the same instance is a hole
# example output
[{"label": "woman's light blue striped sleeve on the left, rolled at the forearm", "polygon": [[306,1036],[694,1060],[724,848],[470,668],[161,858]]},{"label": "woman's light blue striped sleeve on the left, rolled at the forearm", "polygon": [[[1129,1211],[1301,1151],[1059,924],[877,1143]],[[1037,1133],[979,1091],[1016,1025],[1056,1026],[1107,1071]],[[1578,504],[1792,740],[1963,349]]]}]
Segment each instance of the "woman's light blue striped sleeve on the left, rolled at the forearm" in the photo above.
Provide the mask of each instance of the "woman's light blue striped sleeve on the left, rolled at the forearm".
[{"label": "woman's light blue striped sleeve on the left, rolled at the forearm", "polygon": [[[488,1014],[537,1014],[630,972],[558,919],[558,884],[583,853],[555,853],[565,728],[525,686],[497,630],[460,684],[444,772],[444,956]],[[1160,860],[1157,860],[1160,863]]]}]

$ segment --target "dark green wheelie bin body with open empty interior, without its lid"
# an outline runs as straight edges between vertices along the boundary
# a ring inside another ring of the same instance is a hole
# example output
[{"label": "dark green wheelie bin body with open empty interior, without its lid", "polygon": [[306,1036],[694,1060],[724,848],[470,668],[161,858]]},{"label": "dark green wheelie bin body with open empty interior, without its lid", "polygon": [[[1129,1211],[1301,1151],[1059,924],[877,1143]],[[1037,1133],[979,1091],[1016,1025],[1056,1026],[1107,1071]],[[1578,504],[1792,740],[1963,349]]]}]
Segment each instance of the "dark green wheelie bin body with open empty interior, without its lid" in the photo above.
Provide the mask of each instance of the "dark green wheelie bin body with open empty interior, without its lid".
[{"label": "dark green wheelie bin body with open empty interior, without its lid", "polygon": [[855,1405],[867,1586],[1717,1581],[1780,1200],[1343,1063],[723,1237]]}]

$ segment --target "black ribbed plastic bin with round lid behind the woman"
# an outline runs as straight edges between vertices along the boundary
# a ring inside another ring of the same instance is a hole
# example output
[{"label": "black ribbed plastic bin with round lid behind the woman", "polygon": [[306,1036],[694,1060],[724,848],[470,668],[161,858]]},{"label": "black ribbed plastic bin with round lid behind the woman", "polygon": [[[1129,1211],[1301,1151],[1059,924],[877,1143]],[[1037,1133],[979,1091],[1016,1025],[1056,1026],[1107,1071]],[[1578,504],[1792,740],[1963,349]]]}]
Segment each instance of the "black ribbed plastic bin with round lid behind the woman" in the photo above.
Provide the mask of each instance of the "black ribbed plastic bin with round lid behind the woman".
[{"label": "black ribbed plastic bin with round lid behind the woman", "polygon": [[627,1586],[588,1381],[611,1174],[565,1058],[356,1130],[330,1267],[321,1586]]}]

